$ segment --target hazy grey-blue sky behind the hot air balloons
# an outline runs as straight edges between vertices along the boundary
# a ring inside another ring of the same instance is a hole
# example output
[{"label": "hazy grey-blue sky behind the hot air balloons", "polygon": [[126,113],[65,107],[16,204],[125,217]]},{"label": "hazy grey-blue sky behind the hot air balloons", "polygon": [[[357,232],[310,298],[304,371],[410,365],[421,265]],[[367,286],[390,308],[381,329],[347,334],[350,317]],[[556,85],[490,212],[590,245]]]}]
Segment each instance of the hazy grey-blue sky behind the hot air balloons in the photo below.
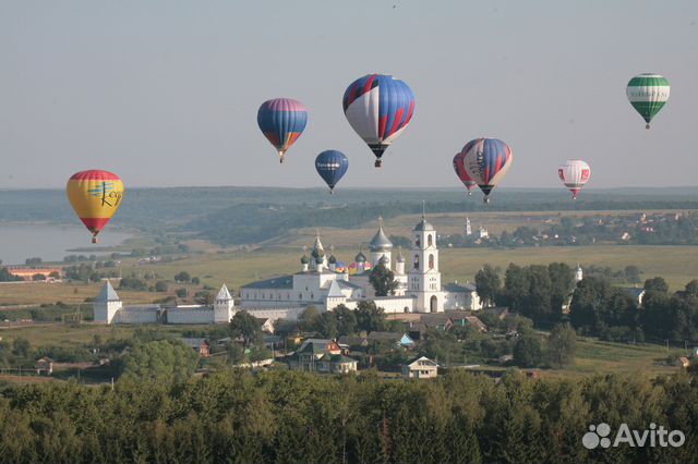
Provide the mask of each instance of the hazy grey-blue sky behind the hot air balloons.
[{"label": "hazy grey-blue sky behind the hot air balloons", "polygon": [[[394,8],[395,5],[395,8]],[[698,1],[0,0],[0,187],[59,187],[100,168],[128,186],[458,186],[471,138],[509,143],[503,186],[697,185]],[[373,168],[345,88],[381,72],[414,91],[410,125]],[[658,72],[671,99],[652,130],[625,85]],[[256,111],[310,110],[279,166]]]}]

